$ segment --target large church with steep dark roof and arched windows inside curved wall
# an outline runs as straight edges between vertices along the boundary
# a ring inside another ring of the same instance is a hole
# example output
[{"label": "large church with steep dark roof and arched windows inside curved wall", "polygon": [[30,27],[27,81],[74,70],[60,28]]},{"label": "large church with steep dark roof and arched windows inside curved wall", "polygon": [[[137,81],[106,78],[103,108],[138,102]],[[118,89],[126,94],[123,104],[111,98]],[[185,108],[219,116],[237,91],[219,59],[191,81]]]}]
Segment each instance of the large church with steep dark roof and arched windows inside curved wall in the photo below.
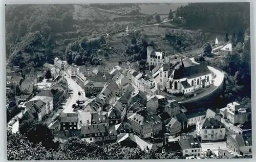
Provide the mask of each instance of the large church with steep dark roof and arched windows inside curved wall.
[{"label": "large church with steep dark roof and arched windows inside curved wall", "polygon": [[170,94],[190,94],[198,89],[205,88],[214,83],[213,73],[205,64],[175,69],[167,82],[166,90]]}]

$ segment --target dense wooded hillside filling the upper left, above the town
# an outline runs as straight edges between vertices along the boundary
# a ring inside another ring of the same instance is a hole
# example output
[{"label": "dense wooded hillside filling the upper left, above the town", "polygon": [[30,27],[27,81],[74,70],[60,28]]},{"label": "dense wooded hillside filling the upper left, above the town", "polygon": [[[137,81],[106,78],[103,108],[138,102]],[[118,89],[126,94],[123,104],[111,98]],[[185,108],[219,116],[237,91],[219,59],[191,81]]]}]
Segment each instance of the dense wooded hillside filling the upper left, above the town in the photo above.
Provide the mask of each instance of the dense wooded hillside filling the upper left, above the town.
[{"label": "dense wooded hillside filling the upper left, above the town", "polygon": [[[104,17],[93,21],[77,20],[73,18],[73,12],[74,5],[6,6],[6,56],[9,63],[21,68],[39,68],[45,62],[52,63],[55,57],[66,59],[67,52],[70,55],[73,51],[72,63],[81,57],[79,64],[99,64],[93,53],[105,42],[90,38],[116,25],[106,26],[108,19]],[[96,22],[99,22],[98,26]],[[82,48],[70,50],[77,42]]]}]

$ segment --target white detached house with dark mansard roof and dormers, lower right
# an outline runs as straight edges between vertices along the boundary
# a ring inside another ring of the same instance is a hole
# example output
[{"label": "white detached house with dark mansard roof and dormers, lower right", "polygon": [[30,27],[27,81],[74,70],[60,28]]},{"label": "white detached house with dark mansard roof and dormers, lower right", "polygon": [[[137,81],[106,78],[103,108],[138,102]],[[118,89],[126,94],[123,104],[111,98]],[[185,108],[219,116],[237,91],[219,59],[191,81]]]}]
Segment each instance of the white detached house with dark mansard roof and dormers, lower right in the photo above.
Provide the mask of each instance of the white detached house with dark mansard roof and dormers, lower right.
[{"label": "white detached house with dark mansard roof and dormers, lower right", "polygon": [[224,140],[226,128],[215,118],[205,118],[197,122],[197,132],[202,141]]}]

